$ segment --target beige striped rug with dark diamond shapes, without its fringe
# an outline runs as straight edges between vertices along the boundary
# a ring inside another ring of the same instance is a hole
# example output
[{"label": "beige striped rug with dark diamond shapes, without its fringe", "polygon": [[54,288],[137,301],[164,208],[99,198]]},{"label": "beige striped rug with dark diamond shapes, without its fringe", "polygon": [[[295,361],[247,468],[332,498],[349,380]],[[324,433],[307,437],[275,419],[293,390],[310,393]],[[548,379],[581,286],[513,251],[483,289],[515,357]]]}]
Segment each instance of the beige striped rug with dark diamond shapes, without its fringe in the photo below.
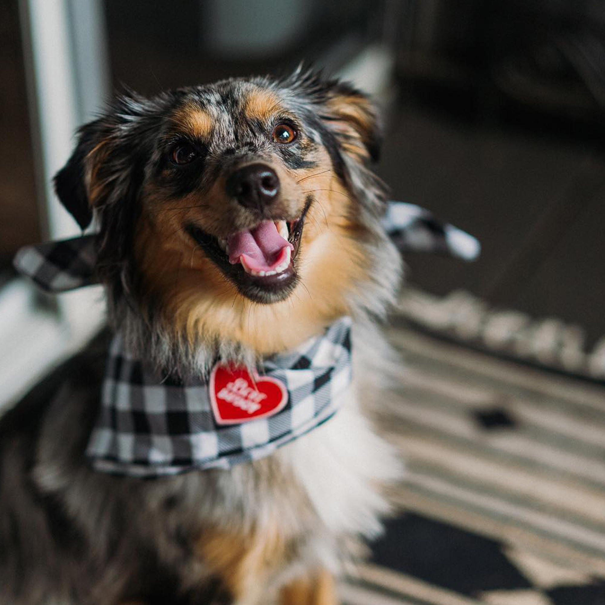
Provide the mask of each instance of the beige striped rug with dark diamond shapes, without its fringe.
[{"label": "beige striped rug with dark diamond shapes, without its fringe", "polygon": [[347,605],[605,605],[605,387],[390,330],[399,514]]}]

